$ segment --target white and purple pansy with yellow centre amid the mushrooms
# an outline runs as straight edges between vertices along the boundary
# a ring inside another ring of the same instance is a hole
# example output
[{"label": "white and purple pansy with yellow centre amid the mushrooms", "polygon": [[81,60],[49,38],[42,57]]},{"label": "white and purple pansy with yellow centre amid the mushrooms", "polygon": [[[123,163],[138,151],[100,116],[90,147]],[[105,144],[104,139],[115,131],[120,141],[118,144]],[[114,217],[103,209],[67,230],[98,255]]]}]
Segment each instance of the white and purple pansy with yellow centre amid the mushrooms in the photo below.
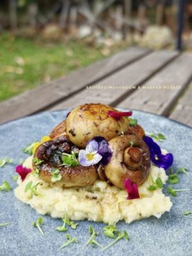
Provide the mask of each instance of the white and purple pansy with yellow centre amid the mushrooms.
[{"label": "white and purple pansy with yellow centre amid the mushrooms", "polygon": [[79,151],[79,163],[83,166],[90,166],[99,162],[106,165],[111,156],[112,152],[108,142],[103,137],[96,136],[88,141],[85,150]]}]

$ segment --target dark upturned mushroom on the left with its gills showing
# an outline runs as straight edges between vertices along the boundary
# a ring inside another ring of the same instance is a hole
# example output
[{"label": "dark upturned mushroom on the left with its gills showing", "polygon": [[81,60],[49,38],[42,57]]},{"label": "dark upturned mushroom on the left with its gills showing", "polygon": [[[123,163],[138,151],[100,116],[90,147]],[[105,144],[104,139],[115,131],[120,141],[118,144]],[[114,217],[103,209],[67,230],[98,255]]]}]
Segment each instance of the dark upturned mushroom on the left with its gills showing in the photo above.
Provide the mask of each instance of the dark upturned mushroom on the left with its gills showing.
[{"label": "dark upturned mushroom on the left with its gills showing", "polygon": [[58,168],[61,180],[57,184],[65,187],[87,186],[93,184],[98,179],[96,166],[61,166],[61,156],[63,153],[79,152],[79,148],[73,145],[67,136],[61,136],[56,140],[46,141],[36,148],[34,157],[43,162],[38,166],[33,163],[33,168],[38,168],[40,179],[51,182],[51,171]]}]

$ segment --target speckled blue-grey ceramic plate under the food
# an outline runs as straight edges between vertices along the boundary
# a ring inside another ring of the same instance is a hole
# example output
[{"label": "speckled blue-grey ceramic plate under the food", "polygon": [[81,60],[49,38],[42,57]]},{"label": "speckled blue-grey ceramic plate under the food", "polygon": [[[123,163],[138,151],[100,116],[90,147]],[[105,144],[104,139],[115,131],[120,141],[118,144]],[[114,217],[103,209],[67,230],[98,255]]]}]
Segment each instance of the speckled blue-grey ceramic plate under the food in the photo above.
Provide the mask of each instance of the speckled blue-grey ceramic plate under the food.
[{"label": "speckled blue-grey ceramic plate under the food", "polygon": [[[20,158],[25,158],[22,153],[28,143],[40,140],[45,134],[49,134],[52,127],[65,118],[68,110],[57,112],[45,112],[39,115],[29,116],[20,120],[0,126],[0,158],[13,157],[14,164],[0,168],[0,184],[6,179],[12,189],[17,185],[12,180],[15,166]],[[192,129],[179,123],[170,121],[161,116],[134,111],[145,131],[162,132],[167,140],[161,144],[173,153],[175,157],[174,167],[185,166],[188,175],[180,175],[180,183],[175,188],[191,188],[192,182]],[[165,189],[166,190],[166,189]],[[38,214],[29,205],[23,204],[15,198],[11,192],[0,192],[0,223],[10,221],[12,224],[0,227],[0,255],[1,256],[53,256],[53,255],[156,255],[156,256],[191,256],[192,255],[192,214],[184,216],[184,211],[192,211],[191,190],[178,193],[173,198],[173,207],[166,212],[161,219],[151,217],[141,221],[135,221],[127,225],[120,221],[117,227],[127,230],[129,241],[119,241],[106,252],[100,252],[98,247],[83,246],[89,237],[88,225],[100,233],[97,240],[101,244],[108,244],[111,239],[102,234],[103,223],[79,221],[77,230],[68,230],[72,236],[78,239],[77,244],[71,244],[63,250],[58,250],[65,241],[65,233],[56,232],[55,227],[61,225],[61,220],[44,216],[43,229],[45,236],[41,236],[32,222],[38,218]]]}]

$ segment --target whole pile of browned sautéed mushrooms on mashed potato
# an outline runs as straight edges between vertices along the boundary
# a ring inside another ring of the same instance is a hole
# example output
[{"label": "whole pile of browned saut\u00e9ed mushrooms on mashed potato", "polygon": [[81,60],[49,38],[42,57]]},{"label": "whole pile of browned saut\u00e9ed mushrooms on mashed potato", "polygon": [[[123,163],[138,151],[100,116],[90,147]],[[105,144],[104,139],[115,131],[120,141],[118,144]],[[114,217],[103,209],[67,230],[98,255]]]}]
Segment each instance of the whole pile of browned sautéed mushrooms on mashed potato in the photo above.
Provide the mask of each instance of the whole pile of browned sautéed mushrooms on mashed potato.
[{"label": "whole pile of browned saut\u00e9ed mushrooms on mashed potato", "polygon": [[[97,179],[107,180],[120,189],[127,178],[143,184],[150,168],[149,150],[142,140],[145,132],[140,125],[130,126],[124,116],[120,120],[109,116],[109,111],[119,112],[104,104],[84,104],[73,109],[51,131],[51,141],[36,149],[34,157],[42,160],[40,178],[51,183],[51,170],[58,168],[62,176],[60,184],[64,187],[87,186]],[[109,143],[112,156],[107,165],[61,165],[60,154],[78,153],[95,136],[102,136]]]}]

